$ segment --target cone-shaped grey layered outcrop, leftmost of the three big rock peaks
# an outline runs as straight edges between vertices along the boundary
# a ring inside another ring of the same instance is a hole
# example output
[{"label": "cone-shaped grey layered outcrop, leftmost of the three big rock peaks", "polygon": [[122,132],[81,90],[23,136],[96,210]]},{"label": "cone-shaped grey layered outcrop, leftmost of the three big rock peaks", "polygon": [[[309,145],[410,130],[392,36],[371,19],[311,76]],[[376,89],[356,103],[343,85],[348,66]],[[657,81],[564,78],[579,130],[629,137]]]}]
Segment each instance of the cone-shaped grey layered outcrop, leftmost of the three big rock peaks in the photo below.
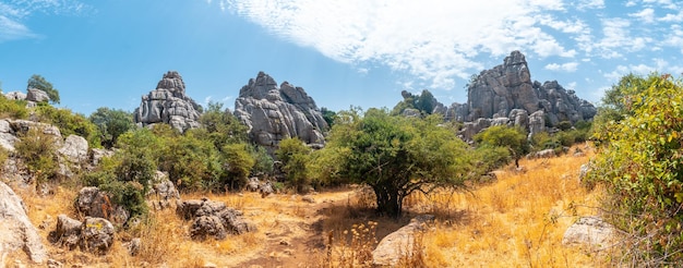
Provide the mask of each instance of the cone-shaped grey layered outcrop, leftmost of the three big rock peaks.
[{"label": "cone-shaped grey layered outcrop, leftmost of the three big rock peaks", "polygon": [[167,123],[184,132],[199,127],[201,107],[185,95],[185,83],[176,71],[169,71],[156,89],[142,96],[140,107],[134,111],[135,123],[143,126]]}]

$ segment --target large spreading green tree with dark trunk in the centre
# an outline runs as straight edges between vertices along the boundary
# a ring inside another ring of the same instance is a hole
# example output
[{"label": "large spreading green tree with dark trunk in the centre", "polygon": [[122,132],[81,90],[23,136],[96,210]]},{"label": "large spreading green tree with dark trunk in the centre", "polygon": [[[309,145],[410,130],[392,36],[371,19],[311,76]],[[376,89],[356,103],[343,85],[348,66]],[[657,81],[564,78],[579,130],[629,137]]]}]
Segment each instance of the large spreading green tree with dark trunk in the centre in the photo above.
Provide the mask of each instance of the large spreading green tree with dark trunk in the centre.
[{"label": "large spreading green tree with dark trunk in the centre", "polygon": [[439,126],[440,117],[392,117],[387,110],[370,109],[361,118],[352,109],[339,118],[323,149],[339,156],[320,159],[336,161],[326,165],[339,167],[340,180],[370,185],[380,212],[400,216],[406,196],[462,186],[471,171],[467,145]]}]

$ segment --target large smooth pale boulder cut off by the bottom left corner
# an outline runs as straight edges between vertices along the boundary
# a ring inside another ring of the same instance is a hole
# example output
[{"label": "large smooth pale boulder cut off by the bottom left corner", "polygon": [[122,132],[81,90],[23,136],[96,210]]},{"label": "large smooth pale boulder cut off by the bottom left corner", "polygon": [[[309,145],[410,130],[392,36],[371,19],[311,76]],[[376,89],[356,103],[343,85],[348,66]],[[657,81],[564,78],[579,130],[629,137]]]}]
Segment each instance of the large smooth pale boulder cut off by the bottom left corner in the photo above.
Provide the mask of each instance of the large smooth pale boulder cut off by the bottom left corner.
[{"label": "large smooth pale boulder cut off by the bottom left corner", "polygon": [[47,249],[38,230],[33,226],[19,195],[0,182],[0,256],[23,249],[31,260],[46,261]]}]

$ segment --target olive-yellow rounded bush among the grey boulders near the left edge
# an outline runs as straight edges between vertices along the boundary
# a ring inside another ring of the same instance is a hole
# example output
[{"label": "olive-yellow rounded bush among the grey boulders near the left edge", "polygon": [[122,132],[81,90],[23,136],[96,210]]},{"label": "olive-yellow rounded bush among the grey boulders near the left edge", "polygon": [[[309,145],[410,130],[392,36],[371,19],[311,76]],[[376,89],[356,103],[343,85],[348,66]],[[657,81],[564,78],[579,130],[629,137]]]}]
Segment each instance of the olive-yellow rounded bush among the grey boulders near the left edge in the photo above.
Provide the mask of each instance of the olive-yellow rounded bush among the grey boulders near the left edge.
[{"label": "olive-yellow rounded bush among the grey boulders near the left edge", "polygon": [[20,137],[14,145],[16,154],[24,160],[28,171],[35,175],[37,184],[56,179],[59,168],[55,154],[57,151],[56,137],[45,134],[39,127],[31,127]]}]

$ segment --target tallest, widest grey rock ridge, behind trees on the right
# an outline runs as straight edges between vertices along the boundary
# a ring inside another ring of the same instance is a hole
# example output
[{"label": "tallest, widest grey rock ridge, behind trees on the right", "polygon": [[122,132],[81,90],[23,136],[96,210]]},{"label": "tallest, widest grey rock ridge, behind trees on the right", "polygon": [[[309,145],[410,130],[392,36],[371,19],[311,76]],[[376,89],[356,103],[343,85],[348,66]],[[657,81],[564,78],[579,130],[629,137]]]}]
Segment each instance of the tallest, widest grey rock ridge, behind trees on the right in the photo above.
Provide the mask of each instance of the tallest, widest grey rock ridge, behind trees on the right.
[{"label": "tallest, widest grey rock ridge, behind trees on the right", "polygon": [[481,71],[470,81],[467,103],[434,103],[434,112],[464,122],[460,135],[471,141],[474,134],[492,125],[516,125],[532,135],[562,121],[590,121],[597,109],[556,81],[531,82],[525,56],[513,51],[503,64]]}]

